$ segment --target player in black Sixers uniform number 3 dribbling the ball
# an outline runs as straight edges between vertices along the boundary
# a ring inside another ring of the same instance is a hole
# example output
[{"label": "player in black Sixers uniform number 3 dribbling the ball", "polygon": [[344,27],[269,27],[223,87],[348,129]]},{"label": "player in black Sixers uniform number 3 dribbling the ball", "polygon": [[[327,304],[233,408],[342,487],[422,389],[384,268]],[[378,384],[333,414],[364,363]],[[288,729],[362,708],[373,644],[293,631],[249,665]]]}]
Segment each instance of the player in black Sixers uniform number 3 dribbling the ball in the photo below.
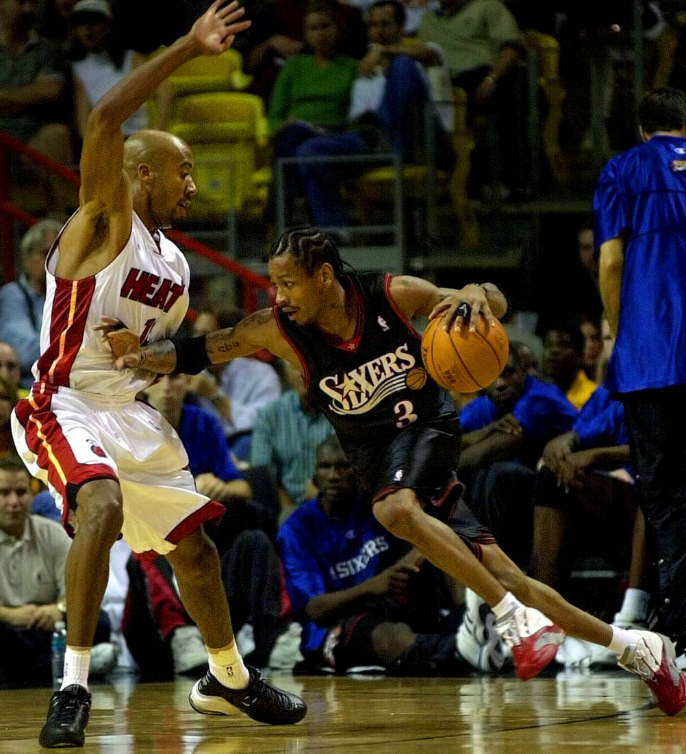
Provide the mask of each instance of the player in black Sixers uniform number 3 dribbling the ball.
[{"label": "player in black Sixers uniform number 3 dribbling the ball", "polygon": [[[196,339],[139,345],[140,333],[103,323],[118,368],[198,373],[210,363],[261,348],[300,369],[311,397],[335,428],[377,520],[490,605],[520,678],[538,673],[569,633],[617,652],[667,714],[686,706],[686,675],[669,639],[622,630],[587,615],[522,571],[461,498],[455,477],[460,427],[449,394],[427,379],[415,315],[470,327],[479,313],[503,317],[492,284],[441,289],[417,277],[345,270],[328,235],[287,231],[271,250],[276,305],[232,329]],[[469,321],[458,307],[470,308]],[[119,328],[119,329],[115,329]],[[294,438],[294,441],[297,439]]]}]

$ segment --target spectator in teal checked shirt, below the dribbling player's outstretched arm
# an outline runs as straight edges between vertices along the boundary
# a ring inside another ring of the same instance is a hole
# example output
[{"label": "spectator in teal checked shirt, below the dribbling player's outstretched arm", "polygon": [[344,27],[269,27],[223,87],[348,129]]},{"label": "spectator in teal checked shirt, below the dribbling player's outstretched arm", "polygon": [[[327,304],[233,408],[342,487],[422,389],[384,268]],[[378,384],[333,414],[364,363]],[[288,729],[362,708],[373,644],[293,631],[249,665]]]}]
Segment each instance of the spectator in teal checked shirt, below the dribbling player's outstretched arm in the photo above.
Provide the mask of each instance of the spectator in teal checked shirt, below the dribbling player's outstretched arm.
[{"label": "spectator in teal checked shirt, below the dribbling player's outstretched arm", "polygon": [[252,466],[274,466],[283,510],[314,497],[312,483],[317,446],[333,428],[311,402],[302,377],[286,362],[291,389],[258,412],[250,449]]}]

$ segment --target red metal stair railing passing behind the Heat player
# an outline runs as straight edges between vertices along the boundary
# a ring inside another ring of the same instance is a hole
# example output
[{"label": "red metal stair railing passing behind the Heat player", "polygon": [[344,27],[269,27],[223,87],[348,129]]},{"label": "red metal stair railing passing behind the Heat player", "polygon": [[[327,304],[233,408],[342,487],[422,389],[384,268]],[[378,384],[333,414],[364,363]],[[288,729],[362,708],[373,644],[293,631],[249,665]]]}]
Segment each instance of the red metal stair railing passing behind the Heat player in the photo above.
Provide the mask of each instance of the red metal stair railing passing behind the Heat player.
[{"label": "red metal stair railing passing behind the Heat player", "polygon": [[[2,250],[2,269],[5,272],[5,282],[14,280],[14,234],[13,222],[17,220],[23,225],[33,225],[36,222],[35,217],[29,213],[20,210],[11,203],[10,179],[9,179],[9,155],[15,152],[30,161],[40,165],[45,170],[54,173],[54,175],[63,178],[66,182],[71,183],[78,190],[81,185],[76,173],[72,173],[63,165],[52,161],[50,158],[41,155],[29,146],[26,146],[19,139],[10,136],[4,131],[0,131],[0,250]],[[264,290],[268,296],[271,296],[271,284],[266,277],[253,272],[247,267],[234,262],[233,259],[226,259],[224,256],[210,248],[201,241],[182,233],[181,231],[170,231],[167,236],[175,244],[184,247],[192,253],[202,256],[209,262],[225,269],[240,280],[243,287],[243,308],[247,313],[255,311],[257,307],[256,291]]]}]

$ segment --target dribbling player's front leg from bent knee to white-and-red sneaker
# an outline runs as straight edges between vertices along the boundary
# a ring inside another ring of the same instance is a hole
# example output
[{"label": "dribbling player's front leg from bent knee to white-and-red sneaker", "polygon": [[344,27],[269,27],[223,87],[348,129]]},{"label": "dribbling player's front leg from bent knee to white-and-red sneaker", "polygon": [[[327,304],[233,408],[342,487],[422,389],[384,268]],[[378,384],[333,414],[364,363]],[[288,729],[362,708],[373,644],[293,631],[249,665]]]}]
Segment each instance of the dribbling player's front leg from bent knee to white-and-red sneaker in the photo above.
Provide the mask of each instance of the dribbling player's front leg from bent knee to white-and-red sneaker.
[{"label": "dribbling player's front leg from bent knee to white-and-red sneaker", "polygon": [[447,524],[424,512],[412,489],[392,492],[377,501],[373,510],[382,526],[414,544],[434,566],[490,605],[498,621],[498,633],[507,633],[522,680],[532,678],[553,661],[565,636],[562,630],[508,592]]}]

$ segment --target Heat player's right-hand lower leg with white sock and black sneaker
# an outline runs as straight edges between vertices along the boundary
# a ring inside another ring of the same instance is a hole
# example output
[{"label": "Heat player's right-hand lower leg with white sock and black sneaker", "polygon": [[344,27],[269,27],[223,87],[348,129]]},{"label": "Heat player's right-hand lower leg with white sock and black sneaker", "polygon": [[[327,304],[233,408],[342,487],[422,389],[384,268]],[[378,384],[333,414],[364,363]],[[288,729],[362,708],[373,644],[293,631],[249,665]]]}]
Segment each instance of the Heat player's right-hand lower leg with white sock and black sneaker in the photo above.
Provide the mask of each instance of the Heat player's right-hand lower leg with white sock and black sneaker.
[{"label": "Heat player's right-hand lower leg with white sock and black sneaker", "polygon": [[198,624],[210,660],[210,671],[195,683],[188,697],[196,712],[231,715],[244,712],[271,725],[289,725],[305,717],[299,697],[272,688],[259,671],[243,664],[238,654],[224,584],[222,566],[213,541],[204,529],[182,539],[167,553],[183,605]]}]

